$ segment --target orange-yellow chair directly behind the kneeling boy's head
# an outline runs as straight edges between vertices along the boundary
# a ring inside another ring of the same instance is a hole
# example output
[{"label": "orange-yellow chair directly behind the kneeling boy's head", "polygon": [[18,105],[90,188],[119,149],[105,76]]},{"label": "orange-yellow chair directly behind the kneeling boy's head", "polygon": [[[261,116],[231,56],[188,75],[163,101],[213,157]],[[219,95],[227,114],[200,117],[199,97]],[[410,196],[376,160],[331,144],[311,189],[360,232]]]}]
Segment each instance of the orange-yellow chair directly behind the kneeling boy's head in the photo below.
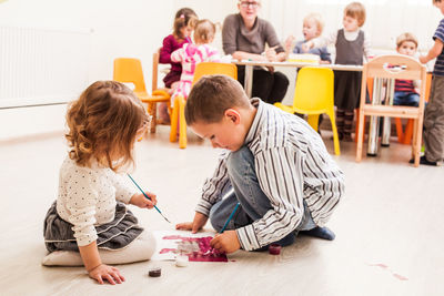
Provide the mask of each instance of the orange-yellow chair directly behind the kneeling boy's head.
[{"label": "orange-yellow chair directly behind the kneeling boy's head", "polygon": [[[224,74],[238,79],[238,68],[232,63],[202,62],[195,65],[193,85],[203,75]],[[179,147],[186,147],[186,122],[185,122],[185,99],[178,95],[174,100],[173,112],[171,116],[170,141],[178,141],[178,121],[179,121]]]}]

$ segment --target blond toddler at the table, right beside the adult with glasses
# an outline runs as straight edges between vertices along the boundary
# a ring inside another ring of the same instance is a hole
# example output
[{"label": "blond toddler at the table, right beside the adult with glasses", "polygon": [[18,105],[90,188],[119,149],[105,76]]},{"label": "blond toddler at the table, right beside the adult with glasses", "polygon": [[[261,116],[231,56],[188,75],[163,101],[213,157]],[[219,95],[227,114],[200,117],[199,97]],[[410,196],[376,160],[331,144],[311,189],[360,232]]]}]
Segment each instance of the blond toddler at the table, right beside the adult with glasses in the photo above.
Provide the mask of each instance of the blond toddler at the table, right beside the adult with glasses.
[{"label": "blond toddler at the table, right beside the adult with glasses", "polygon": [[[322,30],[324,29],[324,21],[322,20],[321,14],[319,13],[310,13],[304,18],[302,25],[302,34],[304,35],[304,40],[297,41],[292,50],[292,44],[294,41],[294,37],[291,35],[285,41],[285,51],[287,53],[305,53],[302,50],[302,44],[307,41],[317,38],[322,34]],[[320,55],[321,63],[331,63],[332,59],[330,58],[330,52],[326,47],[323,48],[313,48],[310,49],[307,53]]]}]

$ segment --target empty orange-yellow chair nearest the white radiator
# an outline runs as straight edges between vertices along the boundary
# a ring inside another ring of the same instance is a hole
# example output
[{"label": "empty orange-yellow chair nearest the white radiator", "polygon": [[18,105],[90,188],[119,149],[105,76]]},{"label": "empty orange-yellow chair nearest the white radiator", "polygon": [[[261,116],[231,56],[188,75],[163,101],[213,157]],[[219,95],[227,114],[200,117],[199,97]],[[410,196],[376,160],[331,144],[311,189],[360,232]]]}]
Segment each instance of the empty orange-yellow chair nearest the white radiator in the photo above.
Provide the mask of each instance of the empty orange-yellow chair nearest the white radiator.
[{"label": "empty orange-yellow chair nearest the white radiator", "polygon": [[155,133],[157,103],[167,102],[168,106],[170,108],[170,94],[164,90],[153,90],[151,95],[147,92],[145,82],[143,79],[142,63],[139,59],[115,59],[113,80],[127,83],[131,82],[134,84],[135,95],[139,98],[140,101],[148,104],[148,113],[152,116],[150,132]]}]

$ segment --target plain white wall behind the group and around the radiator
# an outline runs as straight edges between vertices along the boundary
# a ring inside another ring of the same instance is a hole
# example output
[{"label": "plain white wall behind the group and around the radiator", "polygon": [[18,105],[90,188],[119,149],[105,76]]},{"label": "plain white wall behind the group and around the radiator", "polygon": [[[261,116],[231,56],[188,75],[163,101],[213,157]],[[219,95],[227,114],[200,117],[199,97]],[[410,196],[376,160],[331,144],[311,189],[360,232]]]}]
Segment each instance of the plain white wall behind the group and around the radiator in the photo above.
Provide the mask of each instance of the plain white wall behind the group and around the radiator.
[{"label": "plain white wall behind the group and around the radiator", "polygon": [[[423,49],[428,47],[434,27],[441,17],[437,9],[432,7],[432,1],[424,1],[427,2],[426,6],[418,4],[422,0],[364,0],[369,7],[365,28],[375,38],[374,43],[377,47],[391,48],[393,37],[405,29],[418,34],[420,42],[424,40]],[[238,11],[236,2],[236,0],[9,0],[0,3],[0,24],[93,29],[91,82],[112,78],[114,58],[138,57],[143,63],[147,85],[151,85],[152,53],[161,47],[162,39],[171,32],[173,16],[178,9],[190,7],[200,18],[222,23],[225,16]],[[327,28],[336,29],[341,23],[342,10],[346,2],[349,1],[262,0],[263,8],[260,16],[274,24],[281,40],[290,33],[300,38],[303,16],[310,11],[319,11],[324,16]],[[221,47],[220,34],[215,45]],[[289,98],[292,88],[293,84],[289,89]],[[291,100],[289,98],[286,100]],[[64,112],[65,105],[0,110],[0,140],[30,133],[61,131],[64,126]]]}]

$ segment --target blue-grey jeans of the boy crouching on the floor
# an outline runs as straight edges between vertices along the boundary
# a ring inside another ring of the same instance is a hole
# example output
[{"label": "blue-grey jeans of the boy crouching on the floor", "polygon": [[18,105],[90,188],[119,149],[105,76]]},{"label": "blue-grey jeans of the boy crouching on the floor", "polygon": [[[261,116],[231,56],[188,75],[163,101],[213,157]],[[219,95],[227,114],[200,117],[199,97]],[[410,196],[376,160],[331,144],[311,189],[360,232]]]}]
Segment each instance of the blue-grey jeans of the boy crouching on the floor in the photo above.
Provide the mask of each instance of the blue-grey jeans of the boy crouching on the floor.
[{"label": "blue-grey jeans of the boy crouching on the floor", "polygon": [[[246,146],[243,146],[235,152],[231,152],[226,165],[231,185],[234,188],[234,194],[219,201],[211,207],[210,221],[216,232],[222,229],[238,202],[241,206],[226,226],[226,229],[235,229],[249,225],[254,221],[262,218],[263,215],[272,208],[269,197],[266,197],[259,185],[254,157]],[[229,186],[225,192],[230,188],[231,187]],[[309,231],[314,227],[316,227],[316,225],[304,202],[304,217],[301,224],[276,243],[282,246],[290,245],[294,242],[295,235],[299,231]]]}]

